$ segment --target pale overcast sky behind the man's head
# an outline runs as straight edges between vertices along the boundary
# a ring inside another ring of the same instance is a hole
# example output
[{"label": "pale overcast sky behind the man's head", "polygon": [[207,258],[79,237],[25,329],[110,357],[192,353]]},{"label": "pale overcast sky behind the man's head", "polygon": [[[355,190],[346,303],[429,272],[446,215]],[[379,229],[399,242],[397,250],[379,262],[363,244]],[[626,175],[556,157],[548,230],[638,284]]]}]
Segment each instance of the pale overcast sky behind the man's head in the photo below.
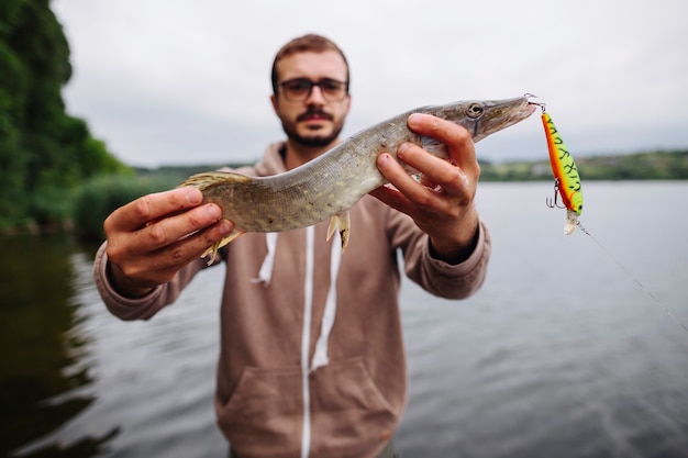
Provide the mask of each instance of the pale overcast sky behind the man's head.
[{"label": "pale overcast sky behind the man's head", "polygon": [[[526,92],[576,155],[688,147],[685,0],[53,0],[70,114],[127,164],[255,160],[284,137],[269,71],[287,41],[336,42],[344,135],[406,110]],[[477,145],[546,158],[536,115]]]}]

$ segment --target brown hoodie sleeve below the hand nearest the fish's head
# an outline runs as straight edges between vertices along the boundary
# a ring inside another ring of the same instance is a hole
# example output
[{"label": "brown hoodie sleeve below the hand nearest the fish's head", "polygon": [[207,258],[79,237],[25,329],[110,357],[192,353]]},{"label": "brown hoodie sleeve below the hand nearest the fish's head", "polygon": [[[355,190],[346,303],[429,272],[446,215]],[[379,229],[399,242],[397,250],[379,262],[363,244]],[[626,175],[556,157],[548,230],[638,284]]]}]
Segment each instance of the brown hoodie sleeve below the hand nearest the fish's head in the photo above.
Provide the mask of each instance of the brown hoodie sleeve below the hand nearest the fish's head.
[{"label": "brown hoodie sleeve below the hand nearest the fish's head", "polygon": [[445,299],[465,299],[482,284],[491,252],[490,234],[485,222],[480,221],[473,254],[457,265],[433,258],[430,237],[409,216],[390,212],[389,231],[392,245],[403,252],[406,275],[428,292]]}]

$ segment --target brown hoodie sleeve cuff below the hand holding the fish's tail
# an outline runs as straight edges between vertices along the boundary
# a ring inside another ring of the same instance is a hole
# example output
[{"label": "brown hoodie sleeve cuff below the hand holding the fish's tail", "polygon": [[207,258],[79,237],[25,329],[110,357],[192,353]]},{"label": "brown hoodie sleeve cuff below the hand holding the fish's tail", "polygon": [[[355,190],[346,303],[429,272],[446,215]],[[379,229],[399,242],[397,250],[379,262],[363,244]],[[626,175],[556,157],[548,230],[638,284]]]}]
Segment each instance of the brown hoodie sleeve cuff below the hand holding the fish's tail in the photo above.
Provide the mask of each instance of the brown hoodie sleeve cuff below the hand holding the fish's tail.
[{"label": "brown hoodie sleeve cuff below the hand holding the fish's tail", "polygon": [[199,259],[179,270],[171,281],[157,286],[146,295],[142,298],[126,298],[118,293],[110,281],[109,260],[106,253],[107,246],[108,243],[104,242],[96,254],[93,279],[96,280],[98,292],[110,313],[125,321],[148,320],[165,305],[171,304],[204,266],[203,260]]}]

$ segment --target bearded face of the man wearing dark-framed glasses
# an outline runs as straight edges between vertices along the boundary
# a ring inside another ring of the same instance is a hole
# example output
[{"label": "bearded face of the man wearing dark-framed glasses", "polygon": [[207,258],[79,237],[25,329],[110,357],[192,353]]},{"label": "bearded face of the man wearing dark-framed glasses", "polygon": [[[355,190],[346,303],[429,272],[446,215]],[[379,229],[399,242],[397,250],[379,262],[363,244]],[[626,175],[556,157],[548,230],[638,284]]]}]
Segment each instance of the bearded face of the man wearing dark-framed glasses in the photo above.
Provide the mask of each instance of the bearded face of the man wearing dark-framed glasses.
[{"label": "bearded face of the man wearing dark-framed glasses", "polygon": [[302,100],[288,98],[285,81],[346,82],[346,64],[335,51],[323,53],[298,53],[277,63],[277,94],[273,94],[273,108],[287,136],[304,146],[328,146],[337,138],[351,107],[351,97],[341,100],[323,93],[323,88],[313,86]]}]

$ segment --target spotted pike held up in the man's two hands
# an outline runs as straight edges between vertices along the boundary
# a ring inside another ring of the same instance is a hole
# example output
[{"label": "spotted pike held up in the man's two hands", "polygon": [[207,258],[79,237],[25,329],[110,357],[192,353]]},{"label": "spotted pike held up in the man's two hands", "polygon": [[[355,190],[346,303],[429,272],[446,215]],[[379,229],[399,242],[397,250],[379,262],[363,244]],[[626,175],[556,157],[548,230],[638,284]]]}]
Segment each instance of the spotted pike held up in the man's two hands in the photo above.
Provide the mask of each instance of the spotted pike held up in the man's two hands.
[{"label": "spotted pike held up in the man's two hands", "polygon": [[[249,177],[233,171],[197,174],[179,187],[196,187],[204,202],[222,209],[222,217],[234,223],[234,231],[213,244],[211,255],[246,232],[284,232],[307,227],[330,219],[328,239],[335,231],[342,250],[351,233],[348,210],[371,190],[388,181],[376,166],[384,152],[397,158],[404,142],[420,145],[434,156],[450,159],[446,146],[419,135],[407,125],[409,115],[426,113],[465,127],[475,142],[509,127],[535,111],[529,94],[506,100],[468,100],[443,105],[421,107],[382,121],[352,135],[321,156],[284,174]],[[418,171],[404,165],[409,175]]]}]

